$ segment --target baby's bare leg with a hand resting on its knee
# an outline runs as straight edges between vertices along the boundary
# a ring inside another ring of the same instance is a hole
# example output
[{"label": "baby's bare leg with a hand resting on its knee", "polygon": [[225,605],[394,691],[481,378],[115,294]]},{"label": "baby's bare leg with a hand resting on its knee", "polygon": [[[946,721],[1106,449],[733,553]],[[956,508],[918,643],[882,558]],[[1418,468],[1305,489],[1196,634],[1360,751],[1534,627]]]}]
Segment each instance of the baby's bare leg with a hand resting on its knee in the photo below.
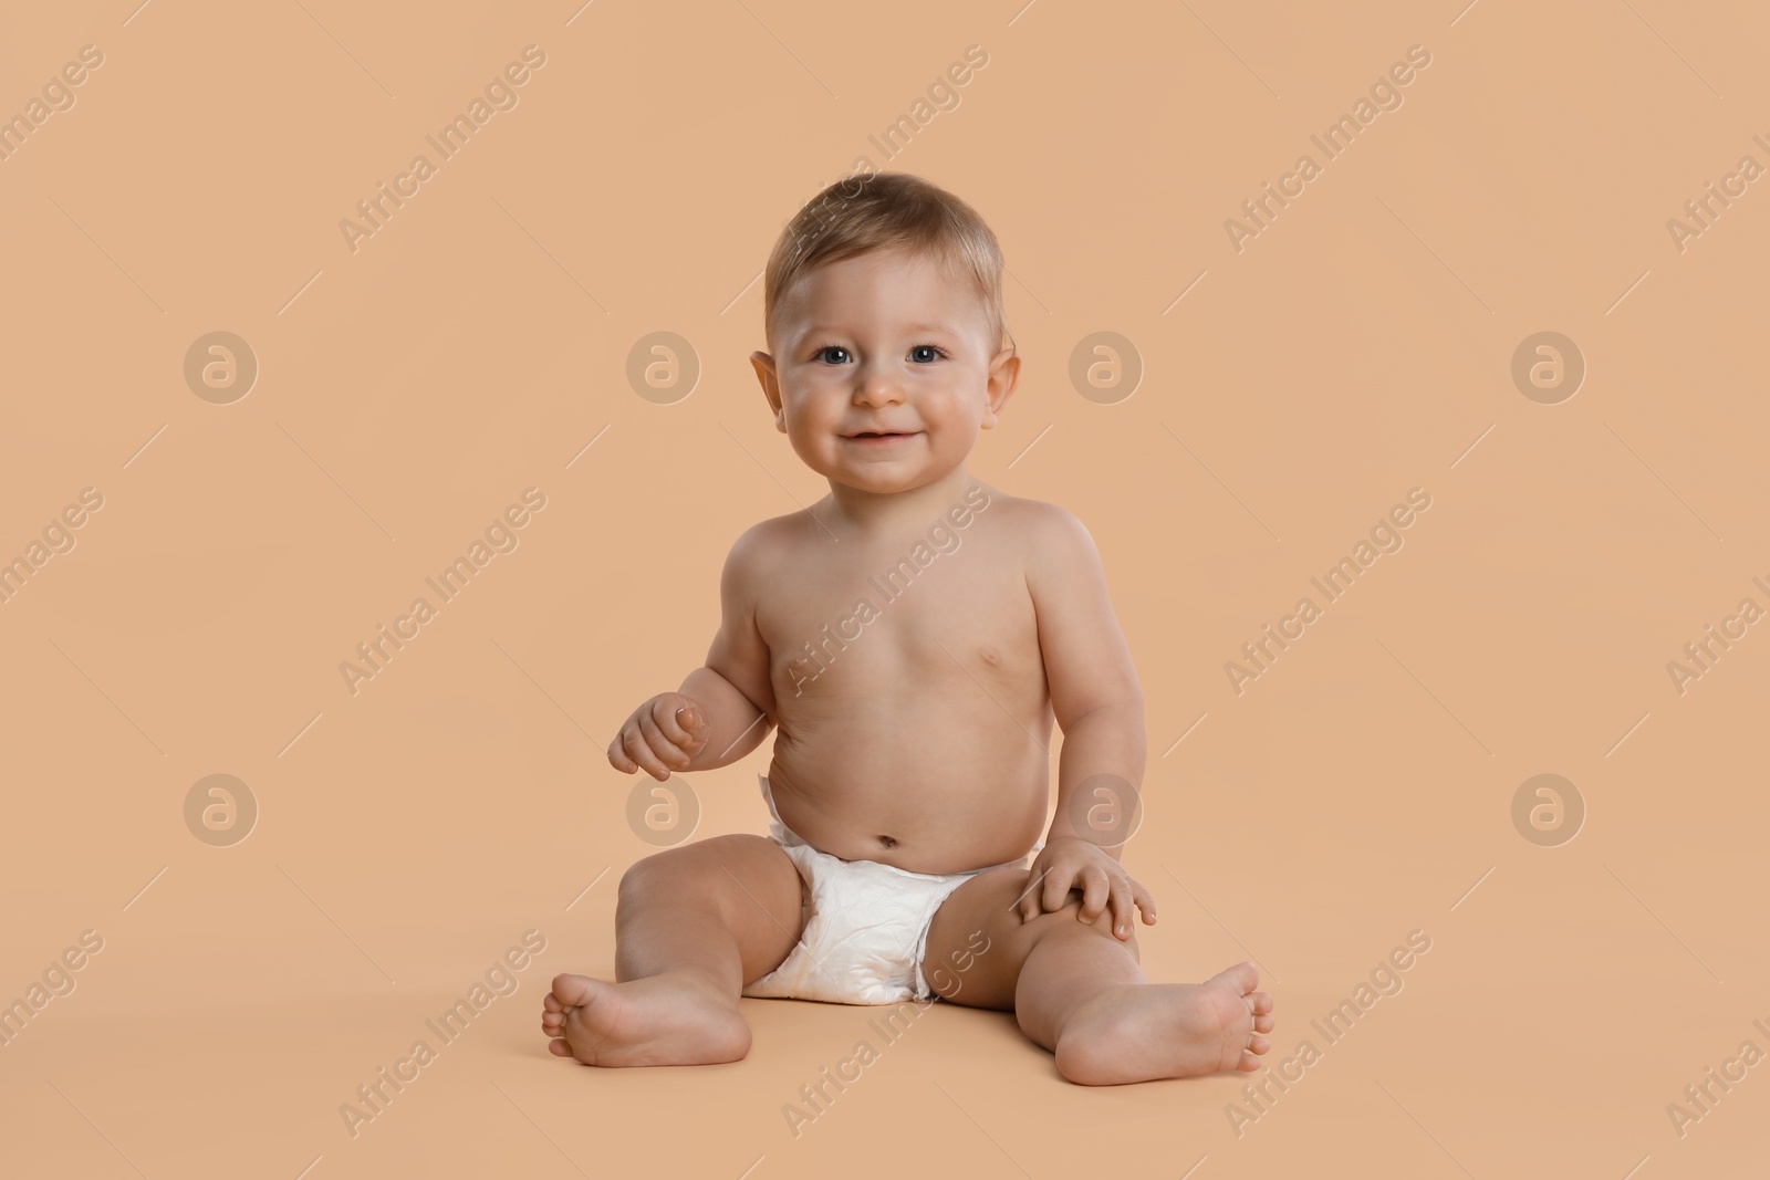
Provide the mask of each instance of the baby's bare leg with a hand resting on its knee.
[{"label": "baby's bare leg with a hand resting on its knee", "polygon": [[929,987],[954,1003],[1012,1008],[1021,1031],[1081,1084],[1258,1069],[1273,998],[1255,991],[1253,964],[1204,984],[1150,984],[1135,929],[1120,941],[1106,915],[1080,922],[1080,892],[1023,923],[1016,902],[1028,886],[1028,870],[993,869],[952,892],[927,932]]}]

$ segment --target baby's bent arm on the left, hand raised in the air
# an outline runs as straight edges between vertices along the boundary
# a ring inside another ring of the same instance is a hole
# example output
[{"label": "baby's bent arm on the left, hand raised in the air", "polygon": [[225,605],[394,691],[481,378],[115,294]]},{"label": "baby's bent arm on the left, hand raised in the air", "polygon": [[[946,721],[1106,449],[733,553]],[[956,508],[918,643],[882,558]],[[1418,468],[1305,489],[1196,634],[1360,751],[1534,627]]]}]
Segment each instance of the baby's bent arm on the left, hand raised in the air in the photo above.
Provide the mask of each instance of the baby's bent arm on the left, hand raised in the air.
[{"label": "baby's bent arm on the left, hand raised in the air", "polygon": [[715,770],[736,762],[768,736],[758,701],[772,701],[768,646],[756,630],[758,529],[731,547],[719,579],[720,623],[706,665],[676,692],[637,709],[609,743],[609,762],[628,775],[644,770],[664,782],[673,770]]}]

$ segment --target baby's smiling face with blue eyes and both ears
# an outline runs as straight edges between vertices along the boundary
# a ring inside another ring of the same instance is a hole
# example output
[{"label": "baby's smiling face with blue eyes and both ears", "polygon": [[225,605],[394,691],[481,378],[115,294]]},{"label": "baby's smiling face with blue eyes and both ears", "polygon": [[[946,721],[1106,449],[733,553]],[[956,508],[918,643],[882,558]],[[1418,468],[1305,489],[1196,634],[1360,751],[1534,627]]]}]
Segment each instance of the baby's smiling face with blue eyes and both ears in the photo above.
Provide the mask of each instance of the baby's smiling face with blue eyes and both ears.
[{"label": "baby's smiling face with blue eyes and both ears", "polygon": [[1020,366],[966,280],[901,249],[802,276],[773,343],[750,359],[775,426],[812,471],[866,492],[919,488],[963,464]]}]

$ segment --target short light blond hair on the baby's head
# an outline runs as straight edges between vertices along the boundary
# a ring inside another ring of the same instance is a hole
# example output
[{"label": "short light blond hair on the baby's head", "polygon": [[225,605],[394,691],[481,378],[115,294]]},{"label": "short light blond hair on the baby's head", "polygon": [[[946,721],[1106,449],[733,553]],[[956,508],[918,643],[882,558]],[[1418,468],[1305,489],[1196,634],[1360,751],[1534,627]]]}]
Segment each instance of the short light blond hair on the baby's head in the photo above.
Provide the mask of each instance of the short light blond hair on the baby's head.
[{"label": "short light blond hair on the baby's head", "polygon": [[906,172],[846,177],[805,202],[781,230],[763,281],[763,329],[770,347],[781,301],[820,265],[876,249],[935,257],[968,278],[984,301],[997,349],[1012,347],[1002,303],[1002,248],[977,211]]}]

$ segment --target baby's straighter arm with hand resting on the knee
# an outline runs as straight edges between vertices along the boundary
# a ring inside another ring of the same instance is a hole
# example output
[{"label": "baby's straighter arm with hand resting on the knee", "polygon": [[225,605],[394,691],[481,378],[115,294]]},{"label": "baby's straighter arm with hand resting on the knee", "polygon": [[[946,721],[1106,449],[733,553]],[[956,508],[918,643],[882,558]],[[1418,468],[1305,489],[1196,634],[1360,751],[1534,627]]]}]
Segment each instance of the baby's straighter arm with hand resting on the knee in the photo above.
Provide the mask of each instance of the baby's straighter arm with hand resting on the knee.
[{"label": "baby's straighter arm with hand resting on the knee", "polygon": [[[1150,923],[1154,900],[1117,865],[1122,844],[1078,821],[1092,807],[1135,807],[1145,759],[1143,690],[1113,616],[1094,538],[1062,508],[1039,504],[1035,511],[1027,587],[1064,752],[1057,768],[1057,814],[1034,863],[1035,876],[1046,874],[1044,888],[1023,899],[1021,913],[1032,918],[1041,909],[1060,909],[1076,886],[1083,890],[1081,920],[1092,922],[1110,908],[1113,932],[1129,938],[1135,908]],[[1122,780],[1115,784],[1117,798],[1078,798],[1096,775]],[[1127,819],[1120,819],[1120,831]]]}]

